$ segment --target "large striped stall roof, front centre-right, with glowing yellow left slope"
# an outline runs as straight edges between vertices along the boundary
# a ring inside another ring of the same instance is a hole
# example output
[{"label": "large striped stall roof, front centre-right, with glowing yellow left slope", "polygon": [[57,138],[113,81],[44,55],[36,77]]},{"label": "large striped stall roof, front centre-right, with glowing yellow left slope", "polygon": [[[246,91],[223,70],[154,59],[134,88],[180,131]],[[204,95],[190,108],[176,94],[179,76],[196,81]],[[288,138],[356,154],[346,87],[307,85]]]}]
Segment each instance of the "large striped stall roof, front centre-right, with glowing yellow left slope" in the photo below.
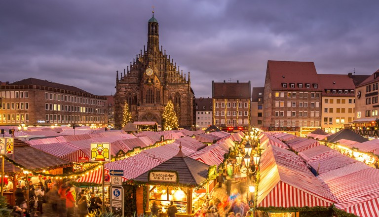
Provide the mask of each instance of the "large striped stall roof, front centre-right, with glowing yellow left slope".
[{"label": "large striped stall roof, front centre-right, with glowing yellow left slope", "polygon": [[329,207],[336,198],[294,152],[270,145],[260,163],[258,207]]}]

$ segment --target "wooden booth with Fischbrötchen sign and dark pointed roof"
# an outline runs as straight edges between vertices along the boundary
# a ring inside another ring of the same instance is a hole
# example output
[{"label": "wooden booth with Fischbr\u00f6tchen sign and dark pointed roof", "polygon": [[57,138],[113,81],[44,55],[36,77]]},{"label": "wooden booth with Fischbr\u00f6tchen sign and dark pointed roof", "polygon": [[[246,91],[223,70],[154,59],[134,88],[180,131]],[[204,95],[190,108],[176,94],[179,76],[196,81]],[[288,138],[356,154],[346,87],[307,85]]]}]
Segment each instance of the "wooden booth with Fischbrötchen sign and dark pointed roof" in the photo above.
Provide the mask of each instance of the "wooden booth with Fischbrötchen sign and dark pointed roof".
[{"label": "wooden booth with Fischbr\u00f6tchen sign and dark pointed roof", "polygon": [[140,185],[136,190],[138,215],[150,214],[155,204],[160,208],[160,216],[165,217],[170,201],[177,207],[177,217],[192,215],[213,189],[216,166],[185,156],[179,147],[177,155],[129,181]]}]

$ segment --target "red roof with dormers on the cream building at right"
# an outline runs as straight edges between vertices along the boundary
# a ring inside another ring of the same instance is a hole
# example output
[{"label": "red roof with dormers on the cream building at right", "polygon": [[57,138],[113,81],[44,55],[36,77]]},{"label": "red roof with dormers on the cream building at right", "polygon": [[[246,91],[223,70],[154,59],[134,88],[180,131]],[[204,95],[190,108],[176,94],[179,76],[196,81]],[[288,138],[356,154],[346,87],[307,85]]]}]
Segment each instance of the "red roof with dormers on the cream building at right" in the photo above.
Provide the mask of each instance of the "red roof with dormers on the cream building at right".
[{"label": "red roof with dormers on the cream building at right", "polygon": [[[353,82],[353,79],[349,77],[347,74],[319,74],[318,75],[319,80],[319,87],[323,91],[322,95],[329,95],[326,93],[325,89],[335,89],[335,90],[354,90],[355,85]],[[354,96],[354,93],[350,94],[350,91],[348,91],[348,94],[330,94],[333,96]]]}]

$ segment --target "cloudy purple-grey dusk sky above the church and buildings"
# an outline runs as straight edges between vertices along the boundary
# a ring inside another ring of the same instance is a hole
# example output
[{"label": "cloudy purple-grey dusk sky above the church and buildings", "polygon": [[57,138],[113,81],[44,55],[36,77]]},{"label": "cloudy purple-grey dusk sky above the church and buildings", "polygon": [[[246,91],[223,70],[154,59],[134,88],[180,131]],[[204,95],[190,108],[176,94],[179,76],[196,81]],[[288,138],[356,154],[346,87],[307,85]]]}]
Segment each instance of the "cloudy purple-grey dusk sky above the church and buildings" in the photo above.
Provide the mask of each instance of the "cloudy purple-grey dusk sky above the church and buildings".
[{"label": "cloudy purple-grey dusk sky above the church and buildings", "polygon": [[318,73],[379,69],[379,1],[4,0],[0,81],[29,77],[114,94],[147,43],[147,22],[196,97],[212,80],[263,87],[267,60],[311,61]]}]

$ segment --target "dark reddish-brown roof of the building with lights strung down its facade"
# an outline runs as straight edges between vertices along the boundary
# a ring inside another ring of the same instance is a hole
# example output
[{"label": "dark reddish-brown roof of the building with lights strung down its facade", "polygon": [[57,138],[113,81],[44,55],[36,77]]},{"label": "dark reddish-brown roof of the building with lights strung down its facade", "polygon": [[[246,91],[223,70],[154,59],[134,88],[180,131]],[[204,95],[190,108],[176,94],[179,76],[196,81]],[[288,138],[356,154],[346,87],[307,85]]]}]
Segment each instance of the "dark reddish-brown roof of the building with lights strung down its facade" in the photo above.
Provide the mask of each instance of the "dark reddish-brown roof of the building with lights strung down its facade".
[{"label": "dark reddish-brown roof of the building with lights strung down its facade", "polygon": [[212,81],[212,98],[250,99],[250,81],[247,83],[216,83]]}]

